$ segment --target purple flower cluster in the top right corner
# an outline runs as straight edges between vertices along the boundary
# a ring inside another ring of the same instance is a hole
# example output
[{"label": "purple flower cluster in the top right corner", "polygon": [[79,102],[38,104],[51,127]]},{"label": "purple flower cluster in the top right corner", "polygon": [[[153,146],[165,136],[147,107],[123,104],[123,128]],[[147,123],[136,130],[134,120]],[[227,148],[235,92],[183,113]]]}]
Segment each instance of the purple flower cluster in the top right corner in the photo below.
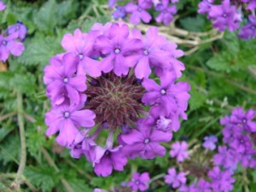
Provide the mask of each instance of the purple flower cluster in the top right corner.
[{"label": "purple flower cluster in the top right corner", "polygon": [[199,3],[199,14],[207,14],[212,26],[219,32],[234,32],[240,28],[242,21],[247,24],[240,28],[239,38],[256,38],[255,0],[222,0],[221,4],[213,4],[214,0],[202,0]]}]

